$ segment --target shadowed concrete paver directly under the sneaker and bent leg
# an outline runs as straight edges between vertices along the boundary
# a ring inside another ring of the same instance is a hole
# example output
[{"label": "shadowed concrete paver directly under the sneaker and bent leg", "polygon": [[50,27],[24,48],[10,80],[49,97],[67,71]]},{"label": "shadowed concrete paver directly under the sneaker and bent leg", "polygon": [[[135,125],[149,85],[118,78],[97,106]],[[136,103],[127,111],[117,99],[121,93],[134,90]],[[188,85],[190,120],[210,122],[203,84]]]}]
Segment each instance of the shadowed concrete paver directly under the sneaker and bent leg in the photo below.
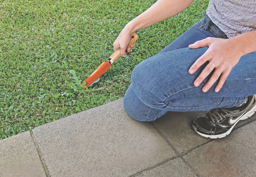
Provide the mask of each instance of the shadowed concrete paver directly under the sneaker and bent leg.
[{"label": "shadowed concrete paver directly under the sneaker and bent leg", "polygon": [[[163,117],[156,119],[153,124],[177,151],[182,154],[182,152],[186,152],[209,140],[198,135],[192,128],[194,119],[203,116],[206,112],[167,112]],[[256,116],[253,115],[246,120],[240,120],[234,129],[248,124],[252,119],[256,120]]]}]

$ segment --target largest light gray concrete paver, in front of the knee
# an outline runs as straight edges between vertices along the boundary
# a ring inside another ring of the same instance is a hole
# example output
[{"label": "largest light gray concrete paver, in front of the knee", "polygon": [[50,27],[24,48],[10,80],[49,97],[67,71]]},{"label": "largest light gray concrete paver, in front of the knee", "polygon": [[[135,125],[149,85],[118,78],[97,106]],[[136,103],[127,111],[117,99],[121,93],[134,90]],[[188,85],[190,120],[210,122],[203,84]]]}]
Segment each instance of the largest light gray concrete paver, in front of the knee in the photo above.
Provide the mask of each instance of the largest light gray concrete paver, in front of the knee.
[{"label": "largest light gray concrete paver, in front of the knee", "polygon": [[176,156],[150,123],[126,113],[123,99],[33,133],[51,177],[130,176]]}]

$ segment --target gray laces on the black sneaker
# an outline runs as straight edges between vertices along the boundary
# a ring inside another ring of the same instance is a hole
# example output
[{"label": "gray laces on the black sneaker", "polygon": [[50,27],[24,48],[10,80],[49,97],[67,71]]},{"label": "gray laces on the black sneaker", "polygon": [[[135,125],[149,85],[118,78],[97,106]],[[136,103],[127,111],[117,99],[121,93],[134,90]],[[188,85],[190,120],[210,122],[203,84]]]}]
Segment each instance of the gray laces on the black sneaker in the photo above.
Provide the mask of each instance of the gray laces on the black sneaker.
[{"label": "gray laces on the black sneaker", "polygon": [[[225,113],[225,114],[223,114]],[[220,121],[226,118],[227,114],[232,114],[233,111],[222,109],[222,108],[215,108],[213,110],[210,110],[206,113],[206,117],[208,118],[210,124],[216,125],[216,122],[219,124]],[[209,119],[210,118],[210,119]],[[212,121],[211,121],[212,120]]]}]

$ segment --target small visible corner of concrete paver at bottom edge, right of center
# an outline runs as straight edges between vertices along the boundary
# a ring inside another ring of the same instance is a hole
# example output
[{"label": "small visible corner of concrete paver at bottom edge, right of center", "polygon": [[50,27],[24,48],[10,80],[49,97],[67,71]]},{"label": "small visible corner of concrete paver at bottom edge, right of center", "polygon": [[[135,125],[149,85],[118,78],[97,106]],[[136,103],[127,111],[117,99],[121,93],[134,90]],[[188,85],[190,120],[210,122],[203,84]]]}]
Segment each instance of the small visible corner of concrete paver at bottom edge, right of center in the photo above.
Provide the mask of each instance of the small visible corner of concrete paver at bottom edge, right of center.
[{"label": "small visible corner of concrete paver at bottom edge, right of center", "polygon": [[164,163],[150,171],[144,172],[139,177],[196,177],[191,168],[181,158],[176,158]]}]

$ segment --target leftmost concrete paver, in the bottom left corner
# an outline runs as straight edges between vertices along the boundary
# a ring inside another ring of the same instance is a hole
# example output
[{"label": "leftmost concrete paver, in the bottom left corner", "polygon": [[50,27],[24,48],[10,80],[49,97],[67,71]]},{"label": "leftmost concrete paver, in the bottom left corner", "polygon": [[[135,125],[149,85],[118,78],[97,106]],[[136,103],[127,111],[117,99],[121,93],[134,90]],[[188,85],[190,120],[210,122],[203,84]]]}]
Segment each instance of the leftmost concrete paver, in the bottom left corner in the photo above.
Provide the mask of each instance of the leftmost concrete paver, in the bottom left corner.
[{"label": "leftmost concrete paver, in the bottom left corner", "polygon": [[46,177],[29,131],[0,141],[1,177]]}]

